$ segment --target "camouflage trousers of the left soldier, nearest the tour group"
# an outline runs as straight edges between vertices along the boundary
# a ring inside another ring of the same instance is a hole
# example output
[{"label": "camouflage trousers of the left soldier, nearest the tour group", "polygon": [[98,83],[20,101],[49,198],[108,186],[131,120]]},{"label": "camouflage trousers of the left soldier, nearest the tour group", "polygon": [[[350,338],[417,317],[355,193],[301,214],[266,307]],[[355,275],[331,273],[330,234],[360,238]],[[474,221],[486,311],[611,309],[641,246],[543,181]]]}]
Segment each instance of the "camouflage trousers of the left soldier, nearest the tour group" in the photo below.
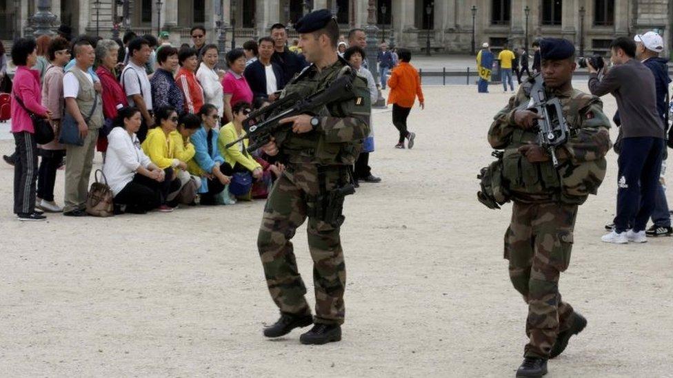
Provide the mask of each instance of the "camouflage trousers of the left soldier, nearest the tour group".
[{"label": "camouflage trousers of the left soldier, nearest the tour group", "polygon": [[[337,166],[325,169],[325,189],[347,180],[348,172]],[[314,322],[343,324],[343,291],[346,272],[339,227],[313,216],[310,198],[319,194],[317,165],[290,165],[274,184],[264,208],[257,248],[271,297],[281,313],[310,315],[306,287],[297,270],[292,242],[297,227],[308,217],[308,248],[313,259],[315,287]]]}]

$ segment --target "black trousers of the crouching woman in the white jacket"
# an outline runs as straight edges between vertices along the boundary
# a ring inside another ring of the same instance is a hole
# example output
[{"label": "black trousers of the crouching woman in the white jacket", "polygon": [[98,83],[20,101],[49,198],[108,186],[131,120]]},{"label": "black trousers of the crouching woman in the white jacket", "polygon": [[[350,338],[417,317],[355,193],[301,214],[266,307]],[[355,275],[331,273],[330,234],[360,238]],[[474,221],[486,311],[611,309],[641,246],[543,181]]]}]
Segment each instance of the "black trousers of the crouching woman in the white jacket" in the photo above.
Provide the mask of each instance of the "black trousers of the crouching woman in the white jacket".
[{"label": "black trousers of the crouching woman in the white jacket", "polygon": [[133,180],[114,196],[115,204],[125,204],[127,213],[143,214],[157,209],[165,202],[166,196],[179,180],[173,178],[171,168],[164,169],[165,180],[158,182],[147,176],[135,174]]}]

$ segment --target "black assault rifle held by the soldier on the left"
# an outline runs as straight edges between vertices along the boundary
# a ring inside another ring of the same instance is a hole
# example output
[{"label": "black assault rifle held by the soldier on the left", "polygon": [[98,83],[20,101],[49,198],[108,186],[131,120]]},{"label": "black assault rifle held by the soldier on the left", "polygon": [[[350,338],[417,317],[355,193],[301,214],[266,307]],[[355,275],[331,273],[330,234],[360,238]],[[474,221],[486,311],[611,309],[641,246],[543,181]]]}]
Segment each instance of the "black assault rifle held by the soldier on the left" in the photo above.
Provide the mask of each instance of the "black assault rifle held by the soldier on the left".
[{"label": "black assault rifle held by the soldier on the left", "polygon": [[308,97],[302,98],[298,93],[288,94],[271,105],[250,113],[250,116],[243,120],[246,135],[225,147],[229,148],[245,138],[250,138],[248,152],[252,152],[269,143],[271,138],[288,132],[292,128],[292,123],[279,123],[281,119],[299,114],[310,114],[329,103],[340,103],[355,98],[353,92],[355,77],[355,72],[350,70],[332,81],[325,89]]}]

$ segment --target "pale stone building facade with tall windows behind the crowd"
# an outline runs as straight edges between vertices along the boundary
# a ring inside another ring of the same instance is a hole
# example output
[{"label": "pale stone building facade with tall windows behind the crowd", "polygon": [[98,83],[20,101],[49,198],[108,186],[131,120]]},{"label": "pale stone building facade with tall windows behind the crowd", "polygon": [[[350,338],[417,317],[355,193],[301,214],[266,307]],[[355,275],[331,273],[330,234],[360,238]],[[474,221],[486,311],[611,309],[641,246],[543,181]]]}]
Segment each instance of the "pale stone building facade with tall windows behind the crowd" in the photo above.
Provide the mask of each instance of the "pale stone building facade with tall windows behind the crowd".
[{"label": "pale stone building facade with tall windows behind the crowd", "polygon": [[[171,32],[174,43],[190,42],[192,25],[204,25],[216,41],[224,19],[227,45],[232,35],[240,46],[268,32],[276,22],[297,21],[310,8],[337,14],[343,30],[367,23],[368,0],[0,0],[0,39],[31,32],[30,15],[39,1],[48,2],[58,20],[77,32],[110,36],[114,25],[123,34]],[[673,41],[673,1],[669,0],[375,0],[379,37],[414,51],[465,54],[489,42],[521,46],[540,36],[570,39],[578,49],[605,53],[614,36],[647,30],[660,32],[666,54]],[[125,9],[128,11],[125,12]],[[17,12],[20,17],[14,17]],[[124,17],[127,14],[128,17]],[[5,22],[3,22],[5,21]],[[528,21],[528,23],[527,23]],[[59,22],[59,21],[57,21]],[[473,28],[474,22],[474,28]],[[391,33],[392,31],[392,33]],[[392,34],[392,35],[391,35]]]}]

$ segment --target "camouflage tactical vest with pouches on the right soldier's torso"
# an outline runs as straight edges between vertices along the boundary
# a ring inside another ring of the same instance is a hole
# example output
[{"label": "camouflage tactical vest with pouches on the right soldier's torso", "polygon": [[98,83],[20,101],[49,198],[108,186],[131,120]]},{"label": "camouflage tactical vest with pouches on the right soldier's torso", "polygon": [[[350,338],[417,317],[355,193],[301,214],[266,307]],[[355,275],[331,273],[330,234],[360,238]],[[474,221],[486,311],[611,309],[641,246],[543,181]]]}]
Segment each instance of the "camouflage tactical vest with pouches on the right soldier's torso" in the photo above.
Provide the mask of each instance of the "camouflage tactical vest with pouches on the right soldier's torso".
[{"label": "camouflage tactical vest with pouches on the right soldier's torso", "polygon": [[[563,101],[563,116],[569,124],[572,140],[582,125],[603,125],[610,127],[610,121],[603,114],[593,120],[582,120],[580,110],[599,101],[594,96],[574,90],[569,99]],[[596,160],[575,163],[570,159],[561,162],[558,169],[551,161],[529,162],[517,150],[527,143],[537,143],[537,134],[516,128],[512,132],[510,144],[503,156],[503,185],[516,197],[516,193],[533,196],[549,196],[555,201],[568,204],[581,204],[589,194],[596,194],[605,178],[607,162],[604,157]],[[563,148],[563,147],[561,147]]]}]

